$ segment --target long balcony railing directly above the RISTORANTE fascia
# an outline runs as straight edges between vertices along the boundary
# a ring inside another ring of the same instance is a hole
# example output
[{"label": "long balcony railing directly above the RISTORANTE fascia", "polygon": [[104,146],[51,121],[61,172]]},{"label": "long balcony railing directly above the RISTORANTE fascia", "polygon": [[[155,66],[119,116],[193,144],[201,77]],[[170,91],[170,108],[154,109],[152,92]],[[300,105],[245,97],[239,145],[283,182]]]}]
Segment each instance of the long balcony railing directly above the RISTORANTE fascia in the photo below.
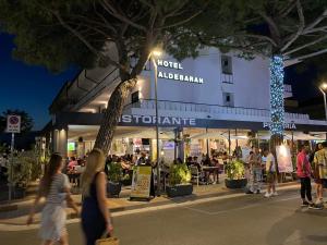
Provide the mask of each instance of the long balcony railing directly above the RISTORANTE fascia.
[{"label": "long balcony railing directly above the RISTORANTE fascia", "polygon": [[[140,109],[155,109],[155,100],[140,100],[135,103],[130,103],[125,107],[129,108],[140,108]],[[181,112],[204,112],[208,114],[233,114],[233,115],[245,115],[245,117],[262,117],[269,118],[270,111],[267,109],[258,108],[243,108],[243,107],[225,107],[220,105],[207,105],[207,103],[191,103],[181,101],[169,101],[169,100],[158,100],[159,110],[168,111],[181,111]],[[289,120],[308,120],[308,114],[298,114],[298,113],[284,113],[284,118]]]}]

